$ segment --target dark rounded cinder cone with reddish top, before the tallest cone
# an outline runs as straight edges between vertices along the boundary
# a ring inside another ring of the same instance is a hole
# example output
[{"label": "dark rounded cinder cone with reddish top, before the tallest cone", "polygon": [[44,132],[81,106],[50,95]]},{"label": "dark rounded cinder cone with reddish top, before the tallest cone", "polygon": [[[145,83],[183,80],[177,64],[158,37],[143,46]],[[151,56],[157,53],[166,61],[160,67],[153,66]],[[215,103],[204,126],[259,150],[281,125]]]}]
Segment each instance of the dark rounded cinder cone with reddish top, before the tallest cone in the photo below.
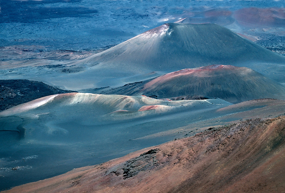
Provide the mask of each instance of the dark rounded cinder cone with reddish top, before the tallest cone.
[{"label": "dark rounded cinder cone with reddish top, before the tallest cone", "polygon": [[134,85],[109,90],[108,93],[155,96],[160,99],[202,95],[230,103],[260,98],[285,99],[283,85],[249,68],[231,65],[183,69],[159,76],[143,85]]}]

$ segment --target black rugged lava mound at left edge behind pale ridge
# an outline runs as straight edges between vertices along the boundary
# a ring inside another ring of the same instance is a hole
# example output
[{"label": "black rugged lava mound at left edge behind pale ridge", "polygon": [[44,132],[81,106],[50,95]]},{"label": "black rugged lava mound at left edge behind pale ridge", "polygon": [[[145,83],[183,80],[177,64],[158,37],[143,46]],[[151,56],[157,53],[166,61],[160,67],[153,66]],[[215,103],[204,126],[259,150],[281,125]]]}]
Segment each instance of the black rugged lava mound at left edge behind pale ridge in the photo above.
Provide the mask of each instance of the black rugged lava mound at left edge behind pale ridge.
[{"label": "black rugged lava mound at left edge behind pale ridge", "polygon": [[0,80],[0,111],[37,98],[75,92],[32,80]]}]

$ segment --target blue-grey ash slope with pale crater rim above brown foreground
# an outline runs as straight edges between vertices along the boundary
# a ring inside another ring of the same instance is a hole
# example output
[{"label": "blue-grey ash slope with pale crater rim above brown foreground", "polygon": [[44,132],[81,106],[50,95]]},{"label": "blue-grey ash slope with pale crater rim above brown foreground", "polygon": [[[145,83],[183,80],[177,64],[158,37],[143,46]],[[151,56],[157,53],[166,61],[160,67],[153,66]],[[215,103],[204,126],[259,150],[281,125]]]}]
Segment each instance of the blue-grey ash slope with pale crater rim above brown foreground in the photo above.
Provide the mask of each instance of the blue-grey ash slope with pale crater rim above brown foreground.
[{"label": "blue-grey ash slope with pale crater rim above brown foreground", "polygon": [[[191,136],[240,119],[284,114],[285,101],[57,94],[0,112],[0,190]],[[44,168],[44,169],[43,169]],[[27,178],[28,176],[28,178]]]}]

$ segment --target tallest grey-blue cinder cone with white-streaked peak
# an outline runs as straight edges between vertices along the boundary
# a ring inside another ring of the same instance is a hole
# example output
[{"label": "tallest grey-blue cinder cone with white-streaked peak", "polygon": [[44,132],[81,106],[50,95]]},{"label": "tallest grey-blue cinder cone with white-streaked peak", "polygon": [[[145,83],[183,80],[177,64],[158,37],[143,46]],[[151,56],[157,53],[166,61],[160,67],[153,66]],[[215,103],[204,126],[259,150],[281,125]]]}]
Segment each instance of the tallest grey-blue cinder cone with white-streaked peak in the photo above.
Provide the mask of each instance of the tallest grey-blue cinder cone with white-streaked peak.
[{"label": "tallest grey-blue cinder cone with white-streaked peak", "polygon": [[216,24],[168,23],[83,61],[133,74],[222,64],[270,75],[264,69],[276,70],[277,66],[268,63],[284,64],[285,57]]}]

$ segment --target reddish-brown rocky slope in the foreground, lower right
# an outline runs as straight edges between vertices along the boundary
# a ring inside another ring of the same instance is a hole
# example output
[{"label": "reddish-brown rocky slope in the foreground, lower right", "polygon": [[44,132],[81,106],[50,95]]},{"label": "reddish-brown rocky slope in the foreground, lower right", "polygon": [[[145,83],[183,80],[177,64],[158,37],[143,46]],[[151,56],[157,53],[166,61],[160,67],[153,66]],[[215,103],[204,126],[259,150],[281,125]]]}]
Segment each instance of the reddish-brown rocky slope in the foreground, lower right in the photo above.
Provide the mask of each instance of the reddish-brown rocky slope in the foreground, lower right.
[{"label": "reddish-brown rocky slope in the foreground, lower right", "polygon": [[4,192],[284,192],[284,138],[250,119]]}]

